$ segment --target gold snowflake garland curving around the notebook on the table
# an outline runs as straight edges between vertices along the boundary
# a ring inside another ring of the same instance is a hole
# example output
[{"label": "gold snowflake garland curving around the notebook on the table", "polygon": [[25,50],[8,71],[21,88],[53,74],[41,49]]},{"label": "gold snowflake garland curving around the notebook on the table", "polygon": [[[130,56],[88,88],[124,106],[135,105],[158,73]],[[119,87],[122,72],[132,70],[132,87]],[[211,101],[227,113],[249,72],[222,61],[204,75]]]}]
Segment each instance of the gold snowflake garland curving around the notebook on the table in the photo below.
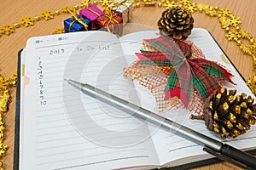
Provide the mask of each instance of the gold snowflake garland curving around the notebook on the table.
[{"label": "gold snowflake garland curving around the notebook on the table", "polygon": [[[129,0],[130,1],[130,0]],[[141,6],[158,6],[164,8],[174,8],[181,7],[189,10],[191,14],[195,12],[207,14],[210,17],[216,17],[219,20],[220,26],[226,32],[225,37],[230,42],[236,42],[236,45],[241,49],[241,52],[247,54],[253,59],[253,71],[256,71],[256,43],[253,36],[246,31],[241,30],[241,18],[236,17],[228,8],[218,8],[202,3],[192,3],[191,0],[131,0],[133,3],[133,8],[139,8]],[[40,15],[34,17],[23,17],[20,21],[16,22],[13,26],[1,26],[0,27],[0,39],[3,35],[9,36],[15,32],[20,26],[33,26],[36,22],[40,20],[53,20],[56,15],[69,14],[68,8],[86,8],[90,4],[100,3],[102,7],[108,7],[113,0],[99,0],[91,2],[90,0],[82,1],[79,5],[74,5],[73,7],[61,8],[51,12],[49,10],[42,12]],[[64,33],[63,29],[56,29],[54,34]],[[4,78],[0,75],[0,91],[2,95],[0,96],[0,158],[5,156],[5,150],[7,145],[3,144],[3,130],[4,122],[2,120],[2,112],[8,111],[8,105],[10,101],[9,88],[15,86],[16,74],[12,78]],[[252,90],[253,94],[256,94],[256,74],[247,80],[247,86]],[[0,169],[3,169],[2,162],[0,162]]]}]

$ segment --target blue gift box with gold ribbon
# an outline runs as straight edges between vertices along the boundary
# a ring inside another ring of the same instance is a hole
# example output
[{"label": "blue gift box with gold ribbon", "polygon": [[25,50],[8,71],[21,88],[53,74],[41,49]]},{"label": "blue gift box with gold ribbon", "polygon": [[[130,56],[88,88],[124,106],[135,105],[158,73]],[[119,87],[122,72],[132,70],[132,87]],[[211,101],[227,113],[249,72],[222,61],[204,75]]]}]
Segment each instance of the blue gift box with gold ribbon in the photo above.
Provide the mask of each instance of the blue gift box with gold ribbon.
[{"label": "blue gift box with gold ribbon", "polygon": [[75,32],[75,31],[90,31],[91,23],[90,20],[82,18],[79,14],[76,17],[64,20],[64,30],[65,32]]}]

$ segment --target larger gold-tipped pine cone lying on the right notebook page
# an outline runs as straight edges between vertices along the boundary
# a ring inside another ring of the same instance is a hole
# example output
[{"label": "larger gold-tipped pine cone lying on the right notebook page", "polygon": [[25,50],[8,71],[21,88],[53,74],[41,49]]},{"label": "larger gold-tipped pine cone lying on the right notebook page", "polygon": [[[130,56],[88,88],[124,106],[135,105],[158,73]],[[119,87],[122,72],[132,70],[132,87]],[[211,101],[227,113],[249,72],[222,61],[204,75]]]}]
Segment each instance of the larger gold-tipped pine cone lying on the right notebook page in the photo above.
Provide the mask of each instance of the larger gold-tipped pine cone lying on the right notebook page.
[{"label": "larger gold-tipped pine cone lying on the right notebook page", "polygon": [[[215,91],[205,102],[204,115],[207,128],[214,133],[220,133],[222,138],[236,138],[246,133],[250,125],[255,124],[256,105],[254,99],[246,94],[236,95],[236,90],[222,88]],[[198,116],[190,116],[198,119]]]}]

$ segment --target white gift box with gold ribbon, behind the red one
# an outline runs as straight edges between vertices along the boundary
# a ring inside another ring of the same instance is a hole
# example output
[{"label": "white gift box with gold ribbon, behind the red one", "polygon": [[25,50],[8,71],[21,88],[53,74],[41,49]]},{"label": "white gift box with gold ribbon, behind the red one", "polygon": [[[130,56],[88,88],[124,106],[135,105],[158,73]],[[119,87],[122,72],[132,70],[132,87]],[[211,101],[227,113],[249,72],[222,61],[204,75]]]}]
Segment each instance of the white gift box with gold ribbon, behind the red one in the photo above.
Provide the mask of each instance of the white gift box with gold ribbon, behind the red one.
[{"label": "white gift box with gold ribbon, behind the red one", "polygon": [[113,14],[123,18],[123,25],[125,25],[132,17],[132,3],[127,0],[115,0],[111,3],[111,11]]}]

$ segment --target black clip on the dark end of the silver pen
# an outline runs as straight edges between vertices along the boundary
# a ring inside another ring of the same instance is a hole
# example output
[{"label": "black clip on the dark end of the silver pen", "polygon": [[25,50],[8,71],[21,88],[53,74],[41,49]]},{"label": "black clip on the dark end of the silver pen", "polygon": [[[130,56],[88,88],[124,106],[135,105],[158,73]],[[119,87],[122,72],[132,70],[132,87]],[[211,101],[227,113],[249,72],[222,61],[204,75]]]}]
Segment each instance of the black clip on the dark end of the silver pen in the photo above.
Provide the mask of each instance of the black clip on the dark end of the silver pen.
[{"label": "black clip on the dark end of the silver pen", "polygon": [[236,161],[232,158],[230,158],[229,156],[224,156],[223,154],[221,153],[218,153],[217,151],[215,150],[212,150],[208,147],[204,147],[203,150],[205,150],[206,152],[208,152],[209,154],[211,154],[212,156],[216,156],[218,157],[218,159],[222,160],[222,161],[229,161],[230,163],[238,166],[238,167],[241,167],[242,169],[249,169],[249,170],[253,170],[252,167],[247,167],[245,164],[239,162],[239,161]]}]

